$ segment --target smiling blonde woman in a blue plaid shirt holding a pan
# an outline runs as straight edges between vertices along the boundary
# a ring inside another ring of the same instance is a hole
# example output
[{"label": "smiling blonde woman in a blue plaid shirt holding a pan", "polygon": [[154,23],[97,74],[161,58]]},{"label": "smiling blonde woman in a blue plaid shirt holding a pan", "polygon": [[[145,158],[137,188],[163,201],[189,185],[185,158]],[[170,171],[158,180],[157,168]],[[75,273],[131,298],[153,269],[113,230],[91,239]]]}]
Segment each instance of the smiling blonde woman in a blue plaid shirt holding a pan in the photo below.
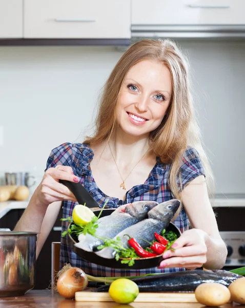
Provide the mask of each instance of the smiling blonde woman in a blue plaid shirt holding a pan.
[{"label": "smiling blonde woman in a blue plaid shirt holding a pan", "polygon": [[[41,232],[37,255],[63,203],[72,215],[76,199],[59,179],[80,182],[102,207],[138,200],[181,200],[174,223],[182,235],[158,268],[140,271],[81,260],[61,238],[60,266],[70,263],[93,276],[136,276],[201,266],[222,268],[227,248],[209,201],[212,179],[193,115],[188,63],[169,40],[132,45],[106,82],[93,137],[51,151],[42,182],[15,230]],[[189,229],[189,223],[192,228]],[[62,231],[67,229],[63,222]],[[170,258],[171,257],[171,258]]]}]

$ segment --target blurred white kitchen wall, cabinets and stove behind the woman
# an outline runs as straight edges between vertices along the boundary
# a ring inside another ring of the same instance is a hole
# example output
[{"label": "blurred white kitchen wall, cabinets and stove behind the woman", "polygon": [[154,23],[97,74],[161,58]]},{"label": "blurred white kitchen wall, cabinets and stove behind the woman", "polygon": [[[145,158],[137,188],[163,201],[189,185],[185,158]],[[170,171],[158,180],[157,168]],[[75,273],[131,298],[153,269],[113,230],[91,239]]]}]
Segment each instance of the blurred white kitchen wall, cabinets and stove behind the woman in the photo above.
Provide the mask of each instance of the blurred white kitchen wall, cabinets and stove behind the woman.
[{"label": "blurred white kitchen wall, cabinets and stove behind the woman", "polygon": [[[31,196],[52,148],[93,131],[99,92],[129,44],[170,37],[191,64],[226,268],[244,265],[244,10],[243,0],[0,0],[0,185],[5,172],[30,172]],[[0,228],[14,228],[29,198],[0,202]],[[38,257],[35,288],[49,285],[61,215]]]}]

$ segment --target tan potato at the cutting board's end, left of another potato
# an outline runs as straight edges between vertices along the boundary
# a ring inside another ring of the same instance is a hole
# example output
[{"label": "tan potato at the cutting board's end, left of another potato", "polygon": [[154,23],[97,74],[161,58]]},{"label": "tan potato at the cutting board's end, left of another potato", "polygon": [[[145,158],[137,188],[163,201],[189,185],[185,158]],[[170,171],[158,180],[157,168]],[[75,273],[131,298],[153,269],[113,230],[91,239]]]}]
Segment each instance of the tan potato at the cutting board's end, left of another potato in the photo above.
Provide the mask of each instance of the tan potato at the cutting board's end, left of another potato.
[{"label": "tan potato at the cutting board's end, left of another potato", "polygon": [[201,283],[195,290],[196,300],[206,306],[220,306],[231,299],[228,287],[217,282]]}]

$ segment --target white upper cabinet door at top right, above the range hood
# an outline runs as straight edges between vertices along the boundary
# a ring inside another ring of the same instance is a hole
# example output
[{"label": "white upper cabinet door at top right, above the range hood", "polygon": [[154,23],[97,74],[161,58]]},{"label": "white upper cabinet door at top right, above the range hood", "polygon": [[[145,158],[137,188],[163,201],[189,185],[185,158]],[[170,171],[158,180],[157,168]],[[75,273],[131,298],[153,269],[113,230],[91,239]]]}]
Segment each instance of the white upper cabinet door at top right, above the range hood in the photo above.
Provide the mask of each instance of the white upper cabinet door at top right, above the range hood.
[{"label": "white upper cabinet door at top right, above the range hood", "polygon": [[132,0],[132,25],[244,25],[245,0]]}]

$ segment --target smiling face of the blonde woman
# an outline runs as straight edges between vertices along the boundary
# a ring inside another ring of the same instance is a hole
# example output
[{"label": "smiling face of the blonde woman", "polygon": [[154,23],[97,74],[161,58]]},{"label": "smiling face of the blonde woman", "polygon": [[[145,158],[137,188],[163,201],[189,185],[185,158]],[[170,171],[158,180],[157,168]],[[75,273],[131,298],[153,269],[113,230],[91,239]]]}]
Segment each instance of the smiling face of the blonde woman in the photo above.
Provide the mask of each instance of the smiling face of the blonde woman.
[{"label": "smiling face of the blonde woman", "polygon": [[156,129],[168,109],[172,95],[169,69],[156,61],[143,60],[127,73],[121,88],[117,122],[133,136]]}]

